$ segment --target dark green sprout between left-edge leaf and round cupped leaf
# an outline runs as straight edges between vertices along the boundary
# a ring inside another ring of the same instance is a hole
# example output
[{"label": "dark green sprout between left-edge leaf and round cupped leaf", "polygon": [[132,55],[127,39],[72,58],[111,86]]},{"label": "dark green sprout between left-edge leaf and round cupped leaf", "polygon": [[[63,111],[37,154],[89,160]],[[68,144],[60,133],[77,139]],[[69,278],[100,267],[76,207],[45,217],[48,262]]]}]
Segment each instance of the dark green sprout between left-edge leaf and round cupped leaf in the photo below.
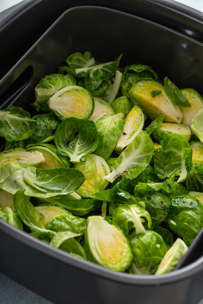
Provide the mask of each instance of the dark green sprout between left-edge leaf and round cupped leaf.
[{"label": "dark green sprout between left-edge leaf and round cupped leaf", "polygon": [[33,116],[32,119],[37,121],[37,126],[26,140],[27,145],[46,143],[54,139],[54,134],[61,121],[53,113],[39,114]]}]

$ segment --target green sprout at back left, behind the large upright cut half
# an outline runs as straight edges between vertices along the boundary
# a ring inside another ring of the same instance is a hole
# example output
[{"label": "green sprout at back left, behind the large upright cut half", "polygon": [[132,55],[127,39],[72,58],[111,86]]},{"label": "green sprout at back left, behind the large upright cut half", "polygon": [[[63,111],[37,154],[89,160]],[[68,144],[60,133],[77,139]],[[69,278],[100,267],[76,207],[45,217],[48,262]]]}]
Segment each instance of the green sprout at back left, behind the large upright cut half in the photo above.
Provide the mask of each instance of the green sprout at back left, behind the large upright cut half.
[{"label": "green sprout at back left, behind the large upright cut half", "polygon": [[48,100],[52,95],[64,87],[75,85],[72,79],[66,75],[50,74],[40,80],[35,87],[36,101],[41,102]]}]

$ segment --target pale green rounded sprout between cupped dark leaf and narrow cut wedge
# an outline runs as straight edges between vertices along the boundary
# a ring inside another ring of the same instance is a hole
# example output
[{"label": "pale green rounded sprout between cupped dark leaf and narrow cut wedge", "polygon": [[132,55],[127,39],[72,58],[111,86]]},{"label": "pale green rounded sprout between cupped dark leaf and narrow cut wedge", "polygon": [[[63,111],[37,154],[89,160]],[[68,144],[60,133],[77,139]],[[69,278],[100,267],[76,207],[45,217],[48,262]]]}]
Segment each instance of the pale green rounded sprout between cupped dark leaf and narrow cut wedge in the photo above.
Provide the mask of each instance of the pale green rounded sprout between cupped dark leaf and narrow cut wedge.
[{"label": "pale green rounded sprout between cupped dark leaf and narrow cut wedge", "polygon": [[95,125],[99,133],[99,144],[94,153],[103,157],[106,161],[116,147],[124,124],[123,113],[110,116],[105,115],[98,119]]}]

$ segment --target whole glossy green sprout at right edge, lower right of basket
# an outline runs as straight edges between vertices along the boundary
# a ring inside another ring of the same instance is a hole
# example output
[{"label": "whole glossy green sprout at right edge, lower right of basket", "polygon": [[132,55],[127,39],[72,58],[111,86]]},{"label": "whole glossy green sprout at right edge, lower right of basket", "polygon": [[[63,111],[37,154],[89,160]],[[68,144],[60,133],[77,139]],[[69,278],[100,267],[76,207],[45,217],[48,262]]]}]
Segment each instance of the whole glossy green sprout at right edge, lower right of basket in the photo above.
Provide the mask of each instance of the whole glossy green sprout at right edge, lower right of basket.
[{"label": "whole glossy green sprout at right edge, lower right of basket", "polygon": [[203,226],[203,205],[195,197],[179,195],[171,200],[168,218],[170,230],[190,245]]}]

